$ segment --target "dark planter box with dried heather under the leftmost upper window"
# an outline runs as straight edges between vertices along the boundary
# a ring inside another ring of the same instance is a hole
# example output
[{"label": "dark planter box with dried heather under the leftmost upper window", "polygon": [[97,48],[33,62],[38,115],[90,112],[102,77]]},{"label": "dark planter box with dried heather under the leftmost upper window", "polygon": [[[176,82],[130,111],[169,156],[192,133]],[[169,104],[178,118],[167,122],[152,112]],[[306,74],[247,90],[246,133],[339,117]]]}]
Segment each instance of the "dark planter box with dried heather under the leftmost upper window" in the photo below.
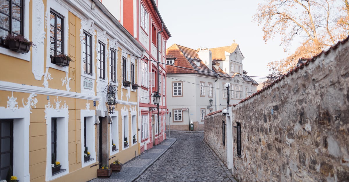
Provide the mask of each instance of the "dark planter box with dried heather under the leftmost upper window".
[{"label": "dark planter box with dried heather under the leftmost upper window", "polygon": [[9,50],[18,52],[18,53],[28,53],[31,46],[34,44],[26,39],[22,35],[9,34],[6,36],[4,45],[8,46]]}]

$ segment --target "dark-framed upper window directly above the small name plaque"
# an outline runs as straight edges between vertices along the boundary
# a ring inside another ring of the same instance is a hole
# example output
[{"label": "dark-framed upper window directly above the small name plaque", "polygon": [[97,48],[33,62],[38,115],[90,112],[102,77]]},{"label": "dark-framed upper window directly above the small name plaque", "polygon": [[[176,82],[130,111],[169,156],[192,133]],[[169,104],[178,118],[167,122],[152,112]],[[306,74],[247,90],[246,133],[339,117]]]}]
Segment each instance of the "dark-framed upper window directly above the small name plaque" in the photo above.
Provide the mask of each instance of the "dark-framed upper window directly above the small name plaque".
[{"label": "dark-framed upper window directly above the small name plaque", "polygon": [[83,33],[84,45],[83,45],[83,62],[84,73],[92,75],[92,36],[84,31]]}]

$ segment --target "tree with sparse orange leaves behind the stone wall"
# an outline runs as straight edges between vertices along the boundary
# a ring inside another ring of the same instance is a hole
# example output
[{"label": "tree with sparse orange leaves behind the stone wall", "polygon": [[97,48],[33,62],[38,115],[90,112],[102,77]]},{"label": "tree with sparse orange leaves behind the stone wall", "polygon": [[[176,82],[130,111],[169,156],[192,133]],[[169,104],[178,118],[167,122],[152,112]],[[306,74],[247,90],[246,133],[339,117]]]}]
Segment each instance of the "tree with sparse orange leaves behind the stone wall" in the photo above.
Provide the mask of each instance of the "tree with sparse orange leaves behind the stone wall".
[{"label": "tree with sparse orange leaves behind the stone wall", "polygon": [[294,38],[302,39],[301,46],[287,58],[269,62],[272,71],[269,76],[276,77],[294,67],[299,58],[310,58],[348,36],[349,3],[348,0],[266,0],[265,4],[259,4],[254,20],[263,26],[266,43],[280,34],[286,52]]}]

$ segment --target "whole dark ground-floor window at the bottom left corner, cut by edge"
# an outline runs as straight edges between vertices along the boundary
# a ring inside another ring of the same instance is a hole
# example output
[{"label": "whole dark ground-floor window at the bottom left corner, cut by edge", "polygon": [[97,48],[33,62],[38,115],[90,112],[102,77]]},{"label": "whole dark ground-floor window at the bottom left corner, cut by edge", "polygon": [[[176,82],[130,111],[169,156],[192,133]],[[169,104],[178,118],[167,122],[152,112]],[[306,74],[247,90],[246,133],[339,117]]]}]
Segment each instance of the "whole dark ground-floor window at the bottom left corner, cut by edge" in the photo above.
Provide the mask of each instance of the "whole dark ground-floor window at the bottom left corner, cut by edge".
[{"label": "whole dark ground-floor window at the bottom left corner, cut by edge", "polygon": [[13,167],[13,119],[0,122],[1,180],[6,180],[7,172]]}]

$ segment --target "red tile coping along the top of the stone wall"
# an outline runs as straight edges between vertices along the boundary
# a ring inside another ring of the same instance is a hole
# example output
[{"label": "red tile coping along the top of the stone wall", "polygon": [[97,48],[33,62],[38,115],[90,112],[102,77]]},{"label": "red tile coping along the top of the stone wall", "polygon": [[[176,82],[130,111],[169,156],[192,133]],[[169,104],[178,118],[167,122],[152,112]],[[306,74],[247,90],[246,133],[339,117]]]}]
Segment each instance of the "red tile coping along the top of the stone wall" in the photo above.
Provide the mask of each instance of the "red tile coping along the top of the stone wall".
[{"label": "red tile coping along the top of the stone wall", "polygon": [[[328,54],[329,52],[331,52],[332,50],[336,50],[340,44],[343,44],[343,43],[346,43],[347,41],[349,40],[349,36],[347,38],[345,38],[344,40],[342,41],[338,41],[337,44],[331,46],[328,48],[327,51],[321,51],[319,54],[313,56],[312,58],[302,58],[301,60],[305,61],[303,62],[302,64],[300,64],[299,66],[295,66],[294,68],[291,68],[287,73],[279,76],[277,79],[275,79],[272,83],[264,86],[261,90],[258,90],[257,92],[253,93],[251,96],[248,96],[246,97],[245,99],[242,99],[238,104],[240,103],[243,103],[245,102],[246,100],[248,99],[251,99],[252,97],[256,96],[256,95],[259,95],[260,93],[264,92],[265,90],[269,89],[269,88],[272,88],[273,85],[275,85],[277,82],[280,82],[282,79],[285,79],[286,77],[289,77],[290,75],[294,74],[295,72],[298,72],[299,69],[303,69],[304,66],[308,66],[310,62],[313,62],[315,60],[318,59],[318,57],[321,56],[321,54]],[[232,106],[232,107],[236,107],[238,104],[233,104],[233,105],[229,105],[229,106]],[[216,113],[219,113],[219,112],[222,112],[222,110],[219,110],[219,111],[215,111],[213,113],[209,113],[207,114],[206,116],[210,116],[210,115],[213,115],[213,114],[216,114]],[[205,116],[205,117],[206,117]]]}]

